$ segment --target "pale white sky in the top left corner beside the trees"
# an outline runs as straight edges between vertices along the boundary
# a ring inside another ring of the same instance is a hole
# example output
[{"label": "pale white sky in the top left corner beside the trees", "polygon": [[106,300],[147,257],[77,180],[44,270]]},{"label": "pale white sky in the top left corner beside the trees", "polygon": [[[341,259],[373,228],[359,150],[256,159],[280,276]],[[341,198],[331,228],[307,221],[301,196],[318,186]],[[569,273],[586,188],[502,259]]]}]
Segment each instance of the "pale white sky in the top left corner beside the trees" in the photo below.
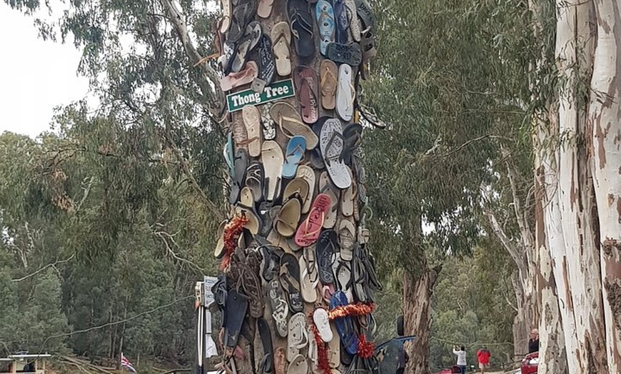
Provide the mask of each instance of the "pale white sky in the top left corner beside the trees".
[{"label": "pale white sky in the top left corner beside the trees", "polygon": [[54,107],[86,96],[73,44],[43,41],[33,19],[0,1],[0,133],[31,137],[50,128]]}]

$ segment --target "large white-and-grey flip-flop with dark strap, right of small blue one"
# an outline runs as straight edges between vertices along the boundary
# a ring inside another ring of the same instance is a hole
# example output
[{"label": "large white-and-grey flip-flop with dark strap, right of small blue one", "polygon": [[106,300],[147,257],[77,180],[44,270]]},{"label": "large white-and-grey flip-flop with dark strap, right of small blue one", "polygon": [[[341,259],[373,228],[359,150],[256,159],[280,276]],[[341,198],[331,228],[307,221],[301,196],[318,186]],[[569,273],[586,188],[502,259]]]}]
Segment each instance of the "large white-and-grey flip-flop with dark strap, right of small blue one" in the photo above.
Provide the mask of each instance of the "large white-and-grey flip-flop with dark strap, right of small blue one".
[{"label": "large white-and-grey flip-flop with dark strap, right of small blue one", "polygon": [[345,142],[340,121],[336,118],[328,119],[321,128],[321,155],[330,179],[340,189],[351,185],[351,176],[342,160],[343,146]]}]

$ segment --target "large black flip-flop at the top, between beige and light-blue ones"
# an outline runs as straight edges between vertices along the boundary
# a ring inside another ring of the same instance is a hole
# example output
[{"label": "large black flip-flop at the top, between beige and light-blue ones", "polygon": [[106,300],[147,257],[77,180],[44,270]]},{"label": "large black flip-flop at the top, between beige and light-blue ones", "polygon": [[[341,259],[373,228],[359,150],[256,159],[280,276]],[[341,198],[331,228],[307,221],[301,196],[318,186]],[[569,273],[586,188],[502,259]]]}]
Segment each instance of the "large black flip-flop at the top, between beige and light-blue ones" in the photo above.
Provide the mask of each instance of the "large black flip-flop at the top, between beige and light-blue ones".
[{"label": "large black flip-flop at the top, between beige and light-blue ones", "polygon": [[288,0],[287,17],[298,57],[310,59],[315,55],[315,36],[308,3],[305,0]]}]

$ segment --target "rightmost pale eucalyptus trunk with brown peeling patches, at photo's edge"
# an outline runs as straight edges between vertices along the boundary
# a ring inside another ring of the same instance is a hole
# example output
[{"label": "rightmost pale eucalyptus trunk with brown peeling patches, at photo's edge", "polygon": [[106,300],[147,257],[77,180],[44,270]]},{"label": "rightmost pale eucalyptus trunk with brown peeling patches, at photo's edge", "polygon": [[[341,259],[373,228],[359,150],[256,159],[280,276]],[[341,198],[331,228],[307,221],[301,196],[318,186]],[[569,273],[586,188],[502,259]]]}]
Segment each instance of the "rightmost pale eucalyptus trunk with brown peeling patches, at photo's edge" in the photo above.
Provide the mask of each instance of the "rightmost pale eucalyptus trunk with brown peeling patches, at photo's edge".
[{"label": "rightmost pale eucalyptus trunk with brown peeling patches, at photo's edge", "polygon": [[599,216],[605,347],[610,373],[621,370],[621,3],[596,0],[597,49],[591,91],[592,174]]}]

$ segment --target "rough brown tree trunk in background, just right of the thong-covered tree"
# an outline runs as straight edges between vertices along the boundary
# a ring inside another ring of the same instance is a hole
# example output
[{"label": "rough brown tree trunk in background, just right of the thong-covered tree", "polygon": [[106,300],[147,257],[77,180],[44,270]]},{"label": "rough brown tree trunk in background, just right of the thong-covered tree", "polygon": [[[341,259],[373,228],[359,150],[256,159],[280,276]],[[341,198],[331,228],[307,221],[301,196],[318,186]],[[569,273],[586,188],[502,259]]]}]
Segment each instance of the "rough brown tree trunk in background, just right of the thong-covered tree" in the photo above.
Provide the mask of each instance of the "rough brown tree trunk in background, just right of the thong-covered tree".
[{"label": "rough brown tree trunk in background, just right of the thong-covered tree", "polygon": [[405,272],[403,276],[403,321],[405,335],[416,335],[406,344],[410,356],[405,373],[429,373],[429,331],[431,328],[431,295],[442,270],[441,266],[426,269],[420,277]]}]

